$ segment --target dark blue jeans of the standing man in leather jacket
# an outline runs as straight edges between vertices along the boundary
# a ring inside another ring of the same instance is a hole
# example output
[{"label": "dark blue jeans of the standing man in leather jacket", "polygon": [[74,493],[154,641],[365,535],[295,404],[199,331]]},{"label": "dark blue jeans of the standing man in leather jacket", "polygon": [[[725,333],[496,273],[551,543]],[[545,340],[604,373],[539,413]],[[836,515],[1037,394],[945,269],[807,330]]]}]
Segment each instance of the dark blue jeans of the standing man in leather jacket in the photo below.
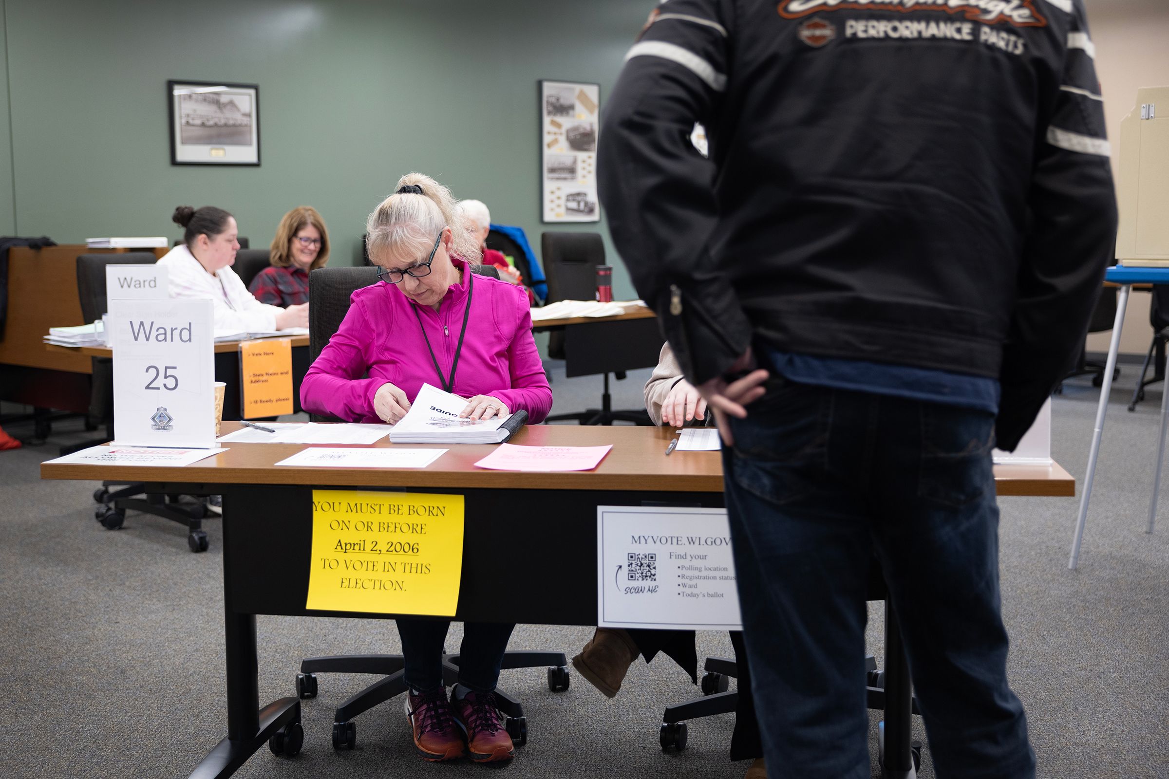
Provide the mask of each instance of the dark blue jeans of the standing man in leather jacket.
[{"label": "dark blue jeans of the standing man in leather jacket", "polygon": [[867,779],[866,583],[880,564],[942,779],[1031,779],[1007,683],[994,416],[774,377],[724,451],[772,779]]}]

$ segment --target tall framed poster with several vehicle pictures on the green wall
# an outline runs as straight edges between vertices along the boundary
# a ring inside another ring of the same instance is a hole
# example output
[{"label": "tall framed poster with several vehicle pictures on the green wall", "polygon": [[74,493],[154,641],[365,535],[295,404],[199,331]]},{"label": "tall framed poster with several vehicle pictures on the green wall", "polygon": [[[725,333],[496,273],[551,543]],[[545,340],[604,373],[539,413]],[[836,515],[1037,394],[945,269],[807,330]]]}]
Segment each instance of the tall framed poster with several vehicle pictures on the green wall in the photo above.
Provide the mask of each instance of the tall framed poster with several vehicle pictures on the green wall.
[{"label": "tall framed poster with several vehicle pictures on the green wall", "polygon": [[596,138],[601,85],[540,82],[540,199],[544,222],[600,222]]}]

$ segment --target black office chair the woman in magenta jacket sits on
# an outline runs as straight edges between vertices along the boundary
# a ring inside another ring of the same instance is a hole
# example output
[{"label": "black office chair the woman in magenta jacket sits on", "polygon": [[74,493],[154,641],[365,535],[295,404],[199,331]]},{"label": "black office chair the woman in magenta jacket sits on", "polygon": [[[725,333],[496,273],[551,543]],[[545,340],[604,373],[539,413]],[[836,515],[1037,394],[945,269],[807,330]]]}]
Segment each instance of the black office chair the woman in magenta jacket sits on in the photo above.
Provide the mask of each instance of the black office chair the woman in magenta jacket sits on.
[{"label": "black office chair the woman in magenta jacket sits on", "polygon": [[[494,267],[484,267],[482,276],[499,278]],[[350,309],[350,295],[378,280],[378,269],[319,267],[309,274],[309,350],[312,360],[328,343],[341,320]],[[313,422],[338,422],[328,415],[311,415]],[[443,683],[458,681],[457,653],[443,656]],[[548,666],[548,689],[568,689],[568,660],[562,652],[507,652],[503,668],[539,668]],[[353,749],[357,726],[353,717],[368,711],[379,703],[406,691],[402,675],[402,655],[337,655],[306,658],[300,661],[300,673],[296,677],[296,691],[300,698],[317,695],[317,674],[374,674],[385,676],[337,707],[333,712],[333,749]],[[496,689],[499,710],[506,716],[507,733],[516,745],[527,742],[527,718],[519,701],[500,689]]]}]

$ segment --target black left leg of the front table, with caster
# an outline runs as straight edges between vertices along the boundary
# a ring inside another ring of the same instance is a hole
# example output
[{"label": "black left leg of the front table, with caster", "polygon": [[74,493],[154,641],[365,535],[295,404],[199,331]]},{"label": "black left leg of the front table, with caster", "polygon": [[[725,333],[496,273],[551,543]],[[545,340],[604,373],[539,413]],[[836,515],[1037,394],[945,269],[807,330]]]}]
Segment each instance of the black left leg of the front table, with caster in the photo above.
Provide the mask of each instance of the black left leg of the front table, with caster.
[{"label": "black left leg of the front table, with caster", "polygon": [[[235,516],[231,509],[247,498],[223,495],[223,606],[224,654],[227,658],[227,738],[203,758],[191,773],[191,779],[223,779],[230,777],[256,750],[277,731],[284,731],[290,744],[286,752],[300,751],[304,733],[300,731],[300,701],[283,697],[260,708],[260,661],[256,656],[256,615],[241,614],[231,603],[231,555],[229,527]],[[296,730],[296,735],[290,733]],[[295,747],[292,744],[295,743]]]}]

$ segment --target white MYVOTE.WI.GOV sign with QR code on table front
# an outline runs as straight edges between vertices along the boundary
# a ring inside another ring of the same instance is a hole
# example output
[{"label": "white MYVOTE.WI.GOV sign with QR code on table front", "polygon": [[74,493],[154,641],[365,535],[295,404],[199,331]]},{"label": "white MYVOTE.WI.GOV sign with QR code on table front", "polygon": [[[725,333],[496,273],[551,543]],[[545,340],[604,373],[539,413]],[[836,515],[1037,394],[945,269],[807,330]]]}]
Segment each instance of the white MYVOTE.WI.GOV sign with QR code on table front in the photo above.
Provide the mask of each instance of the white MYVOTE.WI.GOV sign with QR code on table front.
[{"label": "white MYVOTE.WI.GOV sign with QR code on table front", "polygon": [[596,624],[739,631],[725,508],[597,506]]}]

